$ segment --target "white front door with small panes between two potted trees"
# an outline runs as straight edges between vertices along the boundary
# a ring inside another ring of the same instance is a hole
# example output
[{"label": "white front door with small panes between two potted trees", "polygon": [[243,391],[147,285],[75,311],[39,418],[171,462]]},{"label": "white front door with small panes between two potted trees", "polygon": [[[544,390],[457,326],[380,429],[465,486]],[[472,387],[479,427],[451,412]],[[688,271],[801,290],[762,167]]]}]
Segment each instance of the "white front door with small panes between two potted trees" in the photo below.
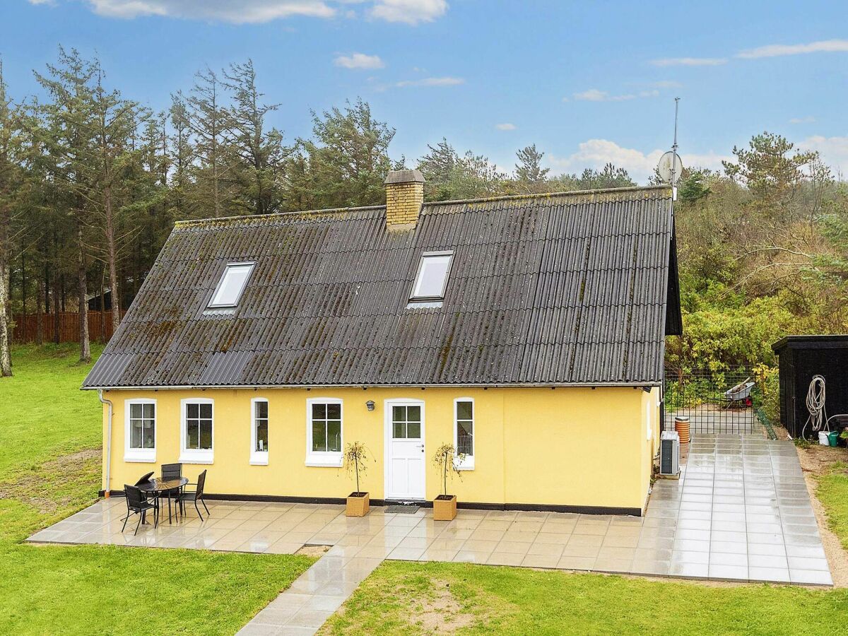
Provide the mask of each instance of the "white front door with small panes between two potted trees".
[{"label": "white front door with small panes between two potted trees", "polygon": [[426,496],[424,403],[386,400],[386,499]]}]

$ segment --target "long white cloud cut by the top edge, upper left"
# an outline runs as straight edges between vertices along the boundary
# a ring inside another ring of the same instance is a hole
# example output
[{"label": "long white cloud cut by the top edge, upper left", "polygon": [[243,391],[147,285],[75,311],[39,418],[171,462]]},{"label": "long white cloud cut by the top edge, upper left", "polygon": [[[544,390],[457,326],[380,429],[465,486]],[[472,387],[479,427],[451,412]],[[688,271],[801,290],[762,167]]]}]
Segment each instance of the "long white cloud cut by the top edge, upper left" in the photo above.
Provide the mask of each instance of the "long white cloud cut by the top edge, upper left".
[{"label": "long white cloud cut by the top edge, upper left", "polygon": [[330,18],[336,10],[323,0],[86,0],[94,13],[109,18],[158,15],[233,24],[270,22],[292,15]]}]

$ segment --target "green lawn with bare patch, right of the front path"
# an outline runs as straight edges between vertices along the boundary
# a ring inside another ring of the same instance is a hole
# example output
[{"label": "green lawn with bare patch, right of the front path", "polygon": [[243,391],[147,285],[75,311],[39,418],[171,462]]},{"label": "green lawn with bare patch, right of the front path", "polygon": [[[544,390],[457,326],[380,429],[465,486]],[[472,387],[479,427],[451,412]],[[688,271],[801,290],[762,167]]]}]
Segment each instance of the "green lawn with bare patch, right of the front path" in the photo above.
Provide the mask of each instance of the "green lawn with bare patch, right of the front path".
[{"label": "green lawn with bare patch, right of the front path", "polygon": [[844,634],[848,590],[386,561],[322,633]]}]

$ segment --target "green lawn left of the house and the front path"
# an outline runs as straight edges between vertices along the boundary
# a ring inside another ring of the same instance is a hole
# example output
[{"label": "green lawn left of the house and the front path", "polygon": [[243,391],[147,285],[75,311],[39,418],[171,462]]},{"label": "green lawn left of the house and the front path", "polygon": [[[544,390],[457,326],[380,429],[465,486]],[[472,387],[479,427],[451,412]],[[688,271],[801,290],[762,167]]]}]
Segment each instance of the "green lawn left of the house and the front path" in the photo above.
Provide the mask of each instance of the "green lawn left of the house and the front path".
[{"label": "green lawn left of the house and the front path", "polygon": [[314,560],[21,543],[97,499],[101,410],[75,361],[20,347],[0,379],[0,633],[235,633]]}]

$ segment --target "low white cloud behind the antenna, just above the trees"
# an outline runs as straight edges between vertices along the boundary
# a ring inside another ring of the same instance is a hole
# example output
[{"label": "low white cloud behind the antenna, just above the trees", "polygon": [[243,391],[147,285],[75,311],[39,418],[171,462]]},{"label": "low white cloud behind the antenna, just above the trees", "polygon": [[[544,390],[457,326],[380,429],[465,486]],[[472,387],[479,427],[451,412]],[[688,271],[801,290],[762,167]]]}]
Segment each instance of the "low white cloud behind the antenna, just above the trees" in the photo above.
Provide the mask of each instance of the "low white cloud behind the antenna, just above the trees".
[{"label": "low white cloud behind the antenna, just above the trees", "polygon": [[[584,168],[600,170],[611,163],[617,168],[624,168],[635,181],[645,182],[654,174],[657,162],[666,150],[657,148],[648,153],[635,148],[624,148],[616,142],[607,139],[589,139],[578,144],[577,152],[567,157],[549,155],[551,167],[557,172],[582,172]],[[680,153],[683,165],[689,168],[710,168],[718,170],[722,167],[722,159],[732,159],[717,153]]]}]

